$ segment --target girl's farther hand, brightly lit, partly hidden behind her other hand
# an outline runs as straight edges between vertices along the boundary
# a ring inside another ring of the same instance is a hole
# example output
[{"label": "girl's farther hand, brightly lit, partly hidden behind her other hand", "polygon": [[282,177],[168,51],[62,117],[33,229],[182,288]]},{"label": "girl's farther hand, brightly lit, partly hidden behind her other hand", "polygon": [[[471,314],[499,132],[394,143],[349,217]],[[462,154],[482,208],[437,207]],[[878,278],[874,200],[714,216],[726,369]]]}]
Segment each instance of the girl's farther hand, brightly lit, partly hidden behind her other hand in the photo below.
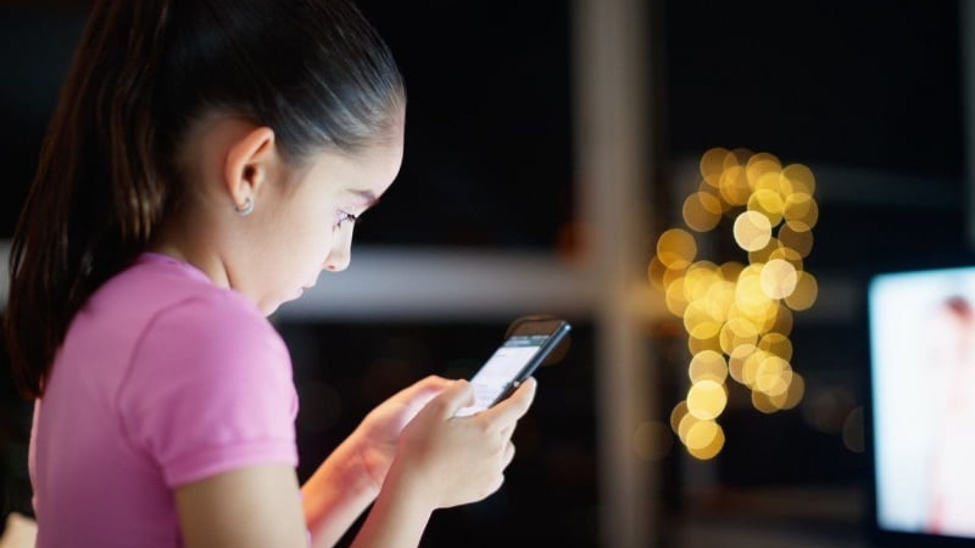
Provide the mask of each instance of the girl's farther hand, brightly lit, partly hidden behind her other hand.
[{"label": "girl's farther hand, brightly lit, partly hidden behind her other hand", "polygon": [[349,438],[352,447],[362,459],[377,492],[396,457],[404,427],[452,382],[442,376],[427,376],[379,404],[352,433]]}]

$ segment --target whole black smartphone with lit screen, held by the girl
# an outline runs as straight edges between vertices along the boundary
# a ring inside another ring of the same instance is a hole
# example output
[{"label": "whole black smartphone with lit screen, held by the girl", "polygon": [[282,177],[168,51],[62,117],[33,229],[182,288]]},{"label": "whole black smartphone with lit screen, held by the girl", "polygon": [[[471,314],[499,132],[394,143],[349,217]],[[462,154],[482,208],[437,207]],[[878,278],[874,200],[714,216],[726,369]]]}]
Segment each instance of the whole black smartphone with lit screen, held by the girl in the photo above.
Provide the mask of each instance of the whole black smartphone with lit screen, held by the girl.
[{"label": "whole black smartphone with lit screen, held by the girl", "polygon": [[471,377],[474,405],[460,408],[454,416],[485,411],[510,396],[558,348],[570,330],[567,322],[558,319],[519,322],[481,370]]}]

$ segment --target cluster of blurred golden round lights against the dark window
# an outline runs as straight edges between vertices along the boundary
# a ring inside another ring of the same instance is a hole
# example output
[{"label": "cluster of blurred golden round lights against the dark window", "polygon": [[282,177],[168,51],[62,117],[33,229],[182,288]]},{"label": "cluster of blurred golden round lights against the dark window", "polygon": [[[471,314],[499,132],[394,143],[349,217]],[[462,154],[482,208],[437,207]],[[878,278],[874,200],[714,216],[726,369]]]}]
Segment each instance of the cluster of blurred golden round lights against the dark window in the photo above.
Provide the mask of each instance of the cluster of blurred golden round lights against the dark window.
[{"label": "cluster of blurred golden round lights against the dark window", "polygon": [[[812,171],[783,167],[767,152],[715,147],[699,168],[700,182],[683,201],[685,226],[703,234],[730,224],[748,261],[702,260],[693,234],[672,228],[658,238],[646,276],[682,320],[691,355],[690,386],[671,412],[670,428],[691,456],[707,460],[724,447],[717,419],[728,405],[728,377],[749,391],[752,407],[762,413],[795,409],[803,399],[805,381],[794,371],[789,336],[794,311],[808,309],[818,295],[804,259],[812,253],[819,206]],[[846,422],[847,447],[856,450],[862,417]],[[658,439],[666,430],[660,422],[643,423],[634,449],[644,459],[661,458],[670,450]]]}]

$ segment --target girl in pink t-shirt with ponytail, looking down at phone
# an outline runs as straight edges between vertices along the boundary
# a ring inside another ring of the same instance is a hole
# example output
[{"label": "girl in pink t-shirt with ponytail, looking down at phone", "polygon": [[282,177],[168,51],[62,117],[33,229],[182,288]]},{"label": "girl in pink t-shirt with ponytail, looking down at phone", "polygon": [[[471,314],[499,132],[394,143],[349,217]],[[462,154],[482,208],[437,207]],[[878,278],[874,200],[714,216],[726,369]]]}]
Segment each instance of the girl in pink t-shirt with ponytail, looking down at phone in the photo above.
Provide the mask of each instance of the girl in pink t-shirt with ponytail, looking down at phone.
[{"label": "girl in pink t-shirt with ponytail, looking down at phone", "polygon": [[37,545],[415,546],[483,499],[534,394],[431,376],[297,485],[265,318],[344,269],[403,154],[403,80],[346,0],[100,0],[13,242]]}]

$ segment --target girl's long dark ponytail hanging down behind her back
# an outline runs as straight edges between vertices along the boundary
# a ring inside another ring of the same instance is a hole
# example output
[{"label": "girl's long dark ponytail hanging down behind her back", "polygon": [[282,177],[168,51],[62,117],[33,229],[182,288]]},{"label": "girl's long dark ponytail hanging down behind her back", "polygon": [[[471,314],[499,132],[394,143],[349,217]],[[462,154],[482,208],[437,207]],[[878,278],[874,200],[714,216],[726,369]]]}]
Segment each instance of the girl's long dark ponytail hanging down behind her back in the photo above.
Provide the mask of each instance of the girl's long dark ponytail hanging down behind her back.
[{"label": "girl's long dark ponytail hanging down behind her back", "polygon": [[4,333],[28,398],[74,314],[145,248],[162,215],[152,100],[169,0],[96,3],[14,235]]}]

